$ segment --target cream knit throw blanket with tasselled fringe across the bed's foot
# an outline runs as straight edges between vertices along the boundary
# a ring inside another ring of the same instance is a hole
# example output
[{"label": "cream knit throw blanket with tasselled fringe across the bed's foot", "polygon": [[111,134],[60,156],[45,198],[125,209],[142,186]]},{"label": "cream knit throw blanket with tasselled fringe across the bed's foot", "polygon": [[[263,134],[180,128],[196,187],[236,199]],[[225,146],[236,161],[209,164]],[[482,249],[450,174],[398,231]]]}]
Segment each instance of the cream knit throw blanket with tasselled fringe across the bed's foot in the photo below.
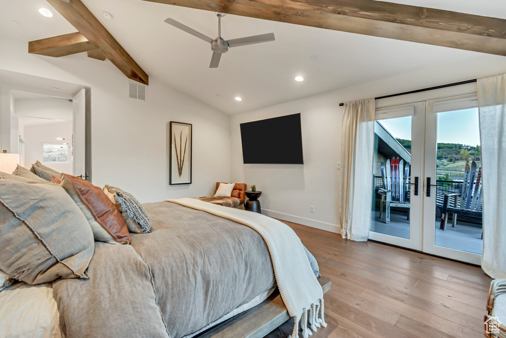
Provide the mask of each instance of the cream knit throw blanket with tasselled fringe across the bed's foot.
[{"label": "cream knit throw blanket with tasselled fringe across the bed's foot", "polygon": [[312,334],[307,327],[308,321],[313,331],[320,325],[327,326],[324,320],[323,290],[311,269],[300,238],[290,227],[262,214],[191,198],[166,201],[227,218],[257,231],[269,248],[281,299],[288,314],[295,320],[291,337],[299,336],[299,321],[304,338]]}]

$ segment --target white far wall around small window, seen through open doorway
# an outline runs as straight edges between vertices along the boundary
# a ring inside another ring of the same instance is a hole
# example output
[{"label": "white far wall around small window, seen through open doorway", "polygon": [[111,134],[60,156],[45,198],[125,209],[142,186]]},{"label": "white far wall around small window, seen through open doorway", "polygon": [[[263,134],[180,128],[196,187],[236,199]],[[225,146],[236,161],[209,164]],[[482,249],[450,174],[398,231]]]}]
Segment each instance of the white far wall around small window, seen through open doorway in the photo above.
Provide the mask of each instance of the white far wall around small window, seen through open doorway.
[{"label": "white far wall around small window, seen through open doorway", "polygon": [[[20,120],[22,120],[21,118]],[[68,163],[44,163],[43,142],[44,143],[62,143],[56,138],[72,138],[72,122],[55,121],[54,123],[44,123],[39,125],[24,126],[25,140],[25,168],[30,169],[35,161],[68,174],[72,174],[72,162]]]}]

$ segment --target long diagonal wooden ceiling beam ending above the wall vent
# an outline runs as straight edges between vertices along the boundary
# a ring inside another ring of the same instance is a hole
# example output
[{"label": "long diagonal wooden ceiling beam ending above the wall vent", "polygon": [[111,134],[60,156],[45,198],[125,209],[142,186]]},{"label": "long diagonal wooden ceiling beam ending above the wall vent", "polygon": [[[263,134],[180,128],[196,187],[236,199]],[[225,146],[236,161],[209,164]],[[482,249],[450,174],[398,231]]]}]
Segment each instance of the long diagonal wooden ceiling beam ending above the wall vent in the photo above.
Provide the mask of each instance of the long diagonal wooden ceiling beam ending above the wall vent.
[{"label": "long diagonal wooden ceiling beam ending above the wall vent", "polygon": [[85,36],[94,45],[94,49],[100,49],[126,77],[148,84],[148,74],[121,47],[85,4],[80,0],[47,0],[47,2]]}]

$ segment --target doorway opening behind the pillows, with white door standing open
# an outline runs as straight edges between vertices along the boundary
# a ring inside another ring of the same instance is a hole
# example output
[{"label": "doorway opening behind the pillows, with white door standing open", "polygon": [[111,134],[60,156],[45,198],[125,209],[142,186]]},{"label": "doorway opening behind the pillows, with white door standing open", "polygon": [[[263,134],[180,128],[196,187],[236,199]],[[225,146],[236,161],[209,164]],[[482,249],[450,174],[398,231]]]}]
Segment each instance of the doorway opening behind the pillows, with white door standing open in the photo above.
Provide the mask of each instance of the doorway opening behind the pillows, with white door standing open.
[{"label": "doorway opening behind the pillows, with white door standing open", "polygon": [[0,149],[91,181],[91,88],[0,69]]}]

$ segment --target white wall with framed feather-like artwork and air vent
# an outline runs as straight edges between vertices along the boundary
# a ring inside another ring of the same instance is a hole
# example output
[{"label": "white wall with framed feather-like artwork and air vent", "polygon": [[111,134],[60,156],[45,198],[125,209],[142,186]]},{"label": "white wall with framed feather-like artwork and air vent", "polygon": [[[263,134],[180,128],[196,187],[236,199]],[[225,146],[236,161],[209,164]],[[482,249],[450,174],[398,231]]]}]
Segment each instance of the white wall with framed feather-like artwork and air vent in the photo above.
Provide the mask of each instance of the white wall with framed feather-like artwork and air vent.
[{"label": "white wall with framed feather-like artwork and air vent", "polygon": [[[108,60],[86,53],[28,54],[26,42],[2,36],[0,68],[91,87],[93,183],[141,202],[200,197],[230,179],[230,119],[149,74],[147,101],[128,98],[128,79]],[[0,79],[0,83],[1,83]],[[168,185],[167,123],[193,124],[193,183]]]}]

